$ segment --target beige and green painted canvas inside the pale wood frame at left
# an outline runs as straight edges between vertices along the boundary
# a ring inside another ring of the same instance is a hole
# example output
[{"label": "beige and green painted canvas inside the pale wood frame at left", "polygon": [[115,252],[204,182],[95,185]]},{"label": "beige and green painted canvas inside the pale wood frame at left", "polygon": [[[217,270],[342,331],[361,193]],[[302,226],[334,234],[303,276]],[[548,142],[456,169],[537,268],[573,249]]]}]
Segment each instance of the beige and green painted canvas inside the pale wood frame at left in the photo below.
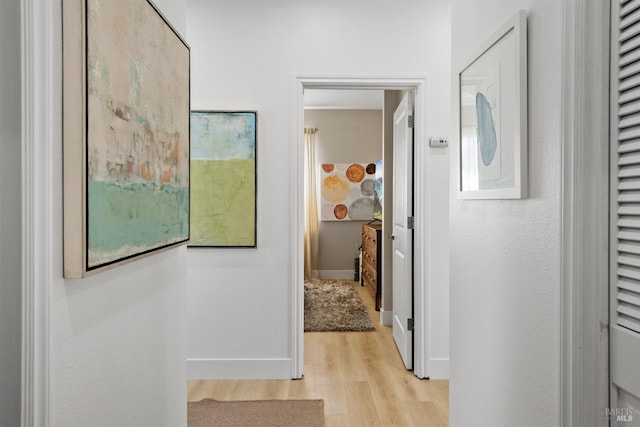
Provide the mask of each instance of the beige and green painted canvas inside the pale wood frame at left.
[{"label": "beige and green painted canvas inside the pale wood frame at left", "polygon": [[87,8],[87,267],[97,268],[189,238],[189,51],[146,0]]}]

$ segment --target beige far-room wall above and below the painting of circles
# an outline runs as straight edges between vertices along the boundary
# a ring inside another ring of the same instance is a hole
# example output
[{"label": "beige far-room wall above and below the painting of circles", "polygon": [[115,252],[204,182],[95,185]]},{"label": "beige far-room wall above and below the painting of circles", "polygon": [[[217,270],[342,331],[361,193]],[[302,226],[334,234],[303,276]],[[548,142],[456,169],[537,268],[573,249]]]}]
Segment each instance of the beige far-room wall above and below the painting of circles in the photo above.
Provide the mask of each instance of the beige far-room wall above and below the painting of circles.
[{"label": "beige far-room wall above and below the painting of circles", "polygon": [[[382,158],[382,111],[305,110],[304,126],[320,129],[316,134],[318,164],[375,163]],[[323,271],[342,271],[344,278],[353,279],[353,259],[358,257],[362,224],[367,222],[319,221],[321,277],[325,277]]]}]

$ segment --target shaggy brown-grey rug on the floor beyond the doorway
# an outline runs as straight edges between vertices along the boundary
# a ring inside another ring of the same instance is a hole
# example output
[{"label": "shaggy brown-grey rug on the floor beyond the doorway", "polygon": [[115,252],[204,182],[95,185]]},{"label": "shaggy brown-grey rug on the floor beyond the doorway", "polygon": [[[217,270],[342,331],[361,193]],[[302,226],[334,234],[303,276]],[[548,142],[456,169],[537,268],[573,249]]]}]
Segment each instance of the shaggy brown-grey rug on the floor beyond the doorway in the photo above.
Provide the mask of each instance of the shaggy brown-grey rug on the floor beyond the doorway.
[{"label": "shaggy brown-grey rug on the floor beyond the doorway", "polygon": [[345,280],[306,280],[304,331],[374,331],[354,286]]}]

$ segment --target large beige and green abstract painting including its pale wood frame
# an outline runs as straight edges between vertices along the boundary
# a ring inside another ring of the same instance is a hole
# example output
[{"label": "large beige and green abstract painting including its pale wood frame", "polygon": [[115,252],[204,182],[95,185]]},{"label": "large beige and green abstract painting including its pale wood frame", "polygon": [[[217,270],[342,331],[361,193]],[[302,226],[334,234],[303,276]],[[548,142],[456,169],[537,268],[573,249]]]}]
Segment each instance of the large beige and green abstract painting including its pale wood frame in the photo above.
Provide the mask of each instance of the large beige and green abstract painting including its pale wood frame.
[{"label": "large beige and green abstract painting including its pale wood frame", "polygon": [[190,55],[147,0],[63,6],[64,271],[83,277],[189,239]]}]

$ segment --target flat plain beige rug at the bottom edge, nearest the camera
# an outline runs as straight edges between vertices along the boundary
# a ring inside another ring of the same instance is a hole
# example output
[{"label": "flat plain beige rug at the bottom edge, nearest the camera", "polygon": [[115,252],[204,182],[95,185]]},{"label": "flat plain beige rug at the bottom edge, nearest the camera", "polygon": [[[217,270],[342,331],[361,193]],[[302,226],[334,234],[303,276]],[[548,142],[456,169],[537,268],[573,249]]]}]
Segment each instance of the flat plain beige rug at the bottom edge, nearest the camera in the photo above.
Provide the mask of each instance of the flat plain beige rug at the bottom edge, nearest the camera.
[{"label": "flat plain beige rug at the bottom edge, nearest the camera", "polygon": [[203,399],[189,402],[188,427],[322,427],[322,400]]}]

